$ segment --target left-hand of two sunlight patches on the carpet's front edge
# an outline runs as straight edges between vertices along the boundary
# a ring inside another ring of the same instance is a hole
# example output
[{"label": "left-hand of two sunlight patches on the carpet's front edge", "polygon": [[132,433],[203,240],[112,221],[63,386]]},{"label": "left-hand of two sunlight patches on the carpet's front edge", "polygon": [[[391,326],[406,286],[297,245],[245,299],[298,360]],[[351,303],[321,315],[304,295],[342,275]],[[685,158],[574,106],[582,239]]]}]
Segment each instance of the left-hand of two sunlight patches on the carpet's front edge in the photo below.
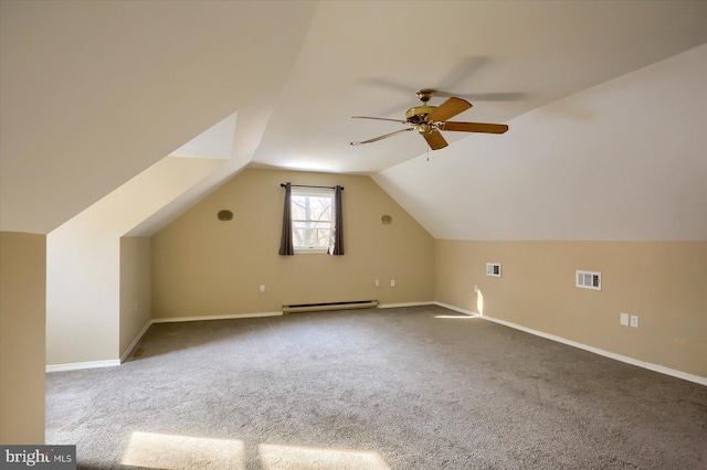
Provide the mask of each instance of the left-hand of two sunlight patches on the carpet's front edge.
[{"label": "left-hand of two sunlight patches on the carpet's front edge", "polygon": [[245,469],[245,445],[242,440],[135,431],[120,463],[148,469],[241,470]]}]

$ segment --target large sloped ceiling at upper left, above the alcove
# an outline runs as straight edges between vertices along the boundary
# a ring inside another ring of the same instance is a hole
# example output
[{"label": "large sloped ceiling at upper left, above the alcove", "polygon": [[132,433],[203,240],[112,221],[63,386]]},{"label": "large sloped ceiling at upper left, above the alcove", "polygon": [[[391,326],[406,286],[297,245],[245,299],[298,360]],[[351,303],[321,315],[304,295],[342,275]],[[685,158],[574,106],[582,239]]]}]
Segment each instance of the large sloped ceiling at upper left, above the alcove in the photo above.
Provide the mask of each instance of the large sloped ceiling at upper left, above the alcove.
[{"label": "large sloped ceiling at upper left, above the alcove", "polygon": [[247,162],[316,3],[1,8],[0,228],[48,233],[236,111]]}]

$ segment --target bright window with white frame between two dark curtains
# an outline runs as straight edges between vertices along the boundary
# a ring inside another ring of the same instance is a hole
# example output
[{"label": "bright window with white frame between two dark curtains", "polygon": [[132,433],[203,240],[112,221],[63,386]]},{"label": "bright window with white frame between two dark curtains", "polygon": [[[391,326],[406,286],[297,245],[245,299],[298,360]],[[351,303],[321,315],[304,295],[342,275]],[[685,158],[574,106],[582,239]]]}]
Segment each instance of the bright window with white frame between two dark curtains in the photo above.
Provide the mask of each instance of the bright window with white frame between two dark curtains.
[{"label": "bright window with white frame between two dark curtains", "polygon": [[295,253],[327,253],[334,221],[334,189],[292,189],[292,239]]}]

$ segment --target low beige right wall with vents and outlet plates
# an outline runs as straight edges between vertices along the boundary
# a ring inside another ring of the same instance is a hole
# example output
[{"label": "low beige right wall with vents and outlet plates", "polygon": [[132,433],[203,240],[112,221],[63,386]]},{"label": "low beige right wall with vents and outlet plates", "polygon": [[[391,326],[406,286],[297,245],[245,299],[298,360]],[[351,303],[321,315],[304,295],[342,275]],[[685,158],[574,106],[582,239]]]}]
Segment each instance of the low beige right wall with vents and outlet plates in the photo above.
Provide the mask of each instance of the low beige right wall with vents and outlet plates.
[{"label": "low beige right wall with vents and outlet plates", "polygon": [[[574,287],[577,269],[602,290]],[[436,241],[435,299],[477,311],[474,285],[484,316],[707,377],[707,242]]]}]

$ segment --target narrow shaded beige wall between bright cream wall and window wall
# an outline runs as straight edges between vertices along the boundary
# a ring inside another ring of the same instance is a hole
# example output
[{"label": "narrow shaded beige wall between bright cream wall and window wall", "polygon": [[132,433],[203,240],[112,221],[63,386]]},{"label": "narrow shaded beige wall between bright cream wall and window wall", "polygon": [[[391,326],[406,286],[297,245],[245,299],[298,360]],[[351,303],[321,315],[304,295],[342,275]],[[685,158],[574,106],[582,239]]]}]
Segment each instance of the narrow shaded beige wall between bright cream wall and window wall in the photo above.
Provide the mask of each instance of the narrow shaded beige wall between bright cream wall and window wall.
[{"label": "narrow shaded beige wall between bright cream wall and window wall", "polygon": [[120,357],[151,318],[150,238],[120,238]]}]

